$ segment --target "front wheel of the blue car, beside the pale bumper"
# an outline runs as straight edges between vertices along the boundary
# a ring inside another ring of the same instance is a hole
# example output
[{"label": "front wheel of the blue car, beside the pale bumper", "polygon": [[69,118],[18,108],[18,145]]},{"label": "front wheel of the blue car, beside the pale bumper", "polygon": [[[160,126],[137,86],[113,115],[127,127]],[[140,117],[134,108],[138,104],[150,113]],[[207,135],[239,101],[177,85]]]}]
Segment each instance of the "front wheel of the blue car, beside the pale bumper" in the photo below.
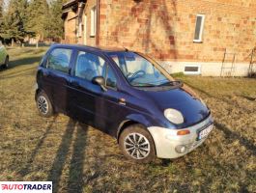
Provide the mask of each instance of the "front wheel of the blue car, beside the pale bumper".
[{"label": "front wheel of the blue car, beside the pale bumper", "polygon": [[142,124],[132,124],[123,130],[119,146],[128,159],[136,163],[150,163],[156,158],[154,140]]}]

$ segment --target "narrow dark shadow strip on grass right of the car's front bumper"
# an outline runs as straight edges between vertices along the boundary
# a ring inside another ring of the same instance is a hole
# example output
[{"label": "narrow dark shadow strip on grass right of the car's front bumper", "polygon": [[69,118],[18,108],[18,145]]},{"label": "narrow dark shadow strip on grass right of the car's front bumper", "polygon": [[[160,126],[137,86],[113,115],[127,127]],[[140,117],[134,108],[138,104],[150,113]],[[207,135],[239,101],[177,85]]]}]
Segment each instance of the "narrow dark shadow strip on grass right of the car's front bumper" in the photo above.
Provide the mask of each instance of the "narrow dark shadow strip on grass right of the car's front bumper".
[{"label": "narrow dark shadow strip on grass right of the car's front bumper", "polygon": [[252,141],[242,137],[240,134],[238,134],[235,131],[232,131],[230,128],[225,126],[224,124],[220,124],[218,122],[214,122],[214,125],[217,129],[223,131],[226,138],[231,140],[239,140],[242,146],[244,146],[248,151],[252,152],[254,155],[256,155],[256,146],[253,144]]}]

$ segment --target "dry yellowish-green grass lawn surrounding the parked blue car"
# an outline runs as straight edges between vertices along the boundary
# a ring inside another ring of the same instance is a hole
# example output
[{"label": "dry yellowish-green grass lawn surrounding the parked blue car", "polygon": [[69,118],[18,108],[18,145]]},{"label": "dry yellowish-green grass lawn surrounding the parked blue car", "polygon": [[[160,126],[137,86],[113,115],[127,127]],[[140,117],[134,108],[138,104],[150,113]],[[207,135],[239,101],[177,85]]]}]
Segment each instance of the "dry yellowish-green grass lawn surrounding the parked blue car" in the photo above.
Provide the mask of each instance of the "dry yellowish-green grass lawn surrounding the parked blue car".
[{"label": "dry yellowish-green grass lawn surrounding the parked blue car", "polygon": [[9,49],[0,71],[0,180],[52,180],[54,192],[255,192],[256,79],[181,77],[209,105],[215,129],[184,157],[138,165],[116,141],[34,101],[45,48]]}]

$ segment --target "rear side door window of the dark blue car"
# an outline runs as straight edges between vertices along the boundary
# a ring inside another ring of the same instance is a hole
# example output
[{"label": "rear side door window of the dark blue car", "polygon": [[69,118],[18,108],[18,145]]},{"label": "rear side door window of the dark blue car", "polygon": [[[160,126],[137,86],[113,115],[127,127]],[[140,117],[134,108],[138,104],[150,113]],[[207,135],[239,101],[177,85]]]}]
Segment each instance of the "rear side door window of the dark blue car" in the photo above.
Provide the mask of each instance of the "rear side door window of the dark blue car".
[{"label": "rear side door window of the dark blue car", "polygon": [[48,56],[46,68],[69,73],[71,54],[71,49],[55,48]]}]

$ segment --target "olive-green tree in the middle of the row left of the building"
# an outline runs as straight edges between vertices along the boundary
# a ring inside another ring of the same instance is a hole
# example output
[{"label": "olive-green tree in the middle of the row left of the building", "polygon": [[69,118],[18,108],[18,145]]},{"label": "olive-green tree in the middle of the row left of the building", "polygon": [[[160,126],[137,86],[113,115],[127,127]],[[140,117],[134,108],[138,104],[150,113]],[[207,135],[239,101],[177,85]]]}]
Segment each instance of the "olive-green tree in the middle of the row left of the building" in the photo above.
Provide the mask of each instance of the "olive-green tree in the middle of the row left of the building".
[{"label": "olive-green tree in the middle of the row left of the building", "polygon": [[31,0],[28,7],[28,22],[26,28],[40,40],[47,37],[49,6],[46,0]]}]

